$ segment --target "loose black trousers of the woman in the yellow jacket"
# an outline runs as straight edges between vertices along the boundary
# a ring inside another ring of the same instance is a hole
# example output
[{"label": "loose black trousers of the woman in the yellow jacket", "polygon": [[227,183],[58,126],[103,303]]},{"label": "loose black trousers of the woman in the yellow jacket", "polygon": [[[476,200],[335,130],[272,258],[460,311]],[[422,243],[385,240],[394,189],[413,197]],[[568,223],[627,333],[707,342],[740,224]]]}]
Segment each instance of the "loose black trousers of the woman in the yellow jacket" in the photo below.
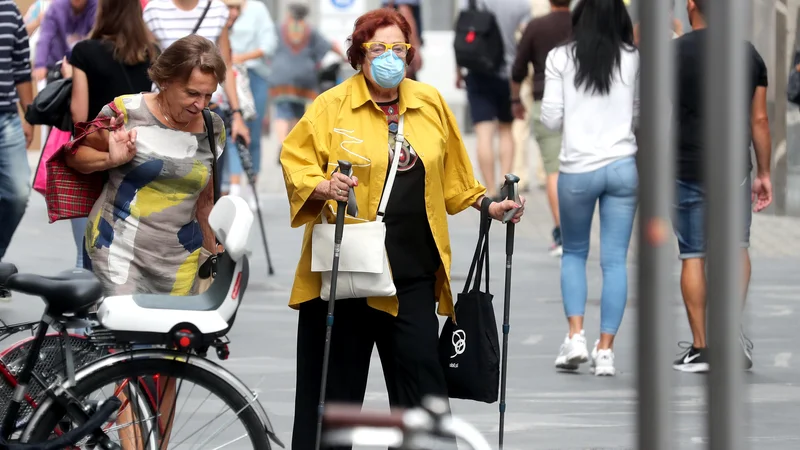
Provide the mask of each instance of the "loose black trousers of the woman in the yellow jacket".
[{"label": "loose black trousers of the woman in the yellow jacket", "polygon": [[[435,278],[395,281],[397,317],[369,307],[364,299],[336,302],[326,402],[364,402],[375,345],[392,407],[418,406],[429,394],[447,397],[437,351],[435,283]],[[327,313],[328,302],[320,299],[300,305],[293,450],[314,449]]]}]

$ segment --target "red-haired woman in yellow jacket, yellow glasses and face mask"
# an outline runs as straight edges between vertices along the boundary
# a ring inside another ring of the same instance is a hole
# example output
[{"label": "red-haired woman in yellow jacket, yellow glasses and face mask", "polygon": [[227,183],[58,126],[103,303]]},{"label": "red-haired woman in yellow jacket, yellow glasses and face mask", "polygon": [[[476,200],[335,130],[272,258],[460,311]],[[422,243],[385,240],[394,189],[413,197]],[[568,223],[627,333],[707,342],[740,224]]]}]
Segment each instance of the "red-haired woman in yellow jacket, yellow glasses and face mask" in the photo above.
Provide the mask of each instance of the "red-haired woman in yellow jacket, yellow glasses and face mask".
[{"label": "red-haired woman in yellow jacket, yellow glasses and face mask", "polygon": [[[409,34],[408,22],[394,10],[360,17],[347,52],[359,72],[320,95],[283,143],[292,226],[306,226],[289,302],[300,311],[295,449],[314,447],[325,341],[327,302],[320,299],[320,273],[311,271],[312,230],[323,214],[334,222],[336,201],[346,201],[355,186],[359,217],[376,219],[401,116],[405,143],[384,216],[397,295],[337,302],[327,400],[363,401],[375,345],[393,407],[416,406],[428,394],[447,395],[436,318],[437,302],[439,314],[453,313],[447,213],[479,208],[486,189],[475,180],[456,121],[439,92],[405,79],[414,57]],[[333,173],[337,160],[352,162],[352,178]],[[511,200],[492,203],[489,214],[500,220],[519,208],[516,222],[522,206]]]}]

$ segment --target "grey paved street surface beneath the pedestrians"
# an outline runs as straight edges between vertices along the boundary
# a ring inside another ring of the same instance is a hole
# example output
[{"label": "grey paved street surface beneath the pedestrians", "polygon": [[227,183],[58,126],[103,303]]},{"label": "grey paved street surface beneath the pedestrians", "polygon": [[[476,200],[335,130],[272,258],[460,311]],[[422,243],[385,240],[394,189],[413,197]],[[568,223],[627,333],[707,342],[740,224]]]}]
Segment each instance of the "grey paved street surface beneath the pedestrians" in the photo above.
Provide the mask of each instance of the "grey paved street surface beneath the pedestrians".
[{"label": "grey paved street surface beneath the pedestrians", "polygon": [[[474,139],[466,138],[474,147]],[[231,358],[224,363],[260,392],[273,424],[284,442],[290,440],[295,381],[295,327],[297,314],[286,304],[297,262],[301,229],[289,228],[282,176],[267,140],[260,192],[263,195],[268,239],[276,274],[266,275],[266,263],[257,235],[252,238],[252,276],[247,298],[230,334]],[[32,155],[33,156],[33,155]],[[35,161],[34,161],[35,163]],[[633,448],[636,436],[636,305],[635,258],[630,264],[630,301],[616,347],[619,374],[598,379],[584,368],[580,374],[560,374],[553,368],[558,346],[566,332],[560,298],[559,260],[547,255],[550,214],[544,196],[528,196],[525,220],[517,227],[513,267],[511,335],[509,349],[506,449],[621,449]],[[477,211],[450,219],[453,247],[453,289],[458,292],[477,237]],[[753,226],[753,285],[747,308],[746,329],[755,343],[755,367],[745,376],[742,398],[749,421],[745,426],[751,448],[791,449],[800,444],[796,417],[800,413],[800,363],[795,361],[800,328],[800,227],[797,219],[757,216]],[[53,273],[74,261],[68,223],[48,224],[44,201],[33,194],[28,213],[9,249],[6,260],[23,271]],[[498,319],[502,318],[504,230],[494,226],[491,241],[493,279]],[[594,239],[594,245],[597,239]],[[598,333],[601,274],[593,249],[588,267],[589,299],[587,338]],[[635,256],[635,255],[634,255]],[[677,259],[675,269],[677,270]],[[676,272],[677,273],[677,272]],[[685,312],[673,291],[672,317],[678,340],[690,338]],[[41,301],[17,296],[0,305],[3,320],[31,319],[41,313]],[[367,393],[367,405],[387,408],[377,356]],[[701,449],[705,439],[705,377],[675,373],[674,414],[676,449]],[[456,414],[476,424],[490,442],[497,439],[497,405],[453,401]]]}]

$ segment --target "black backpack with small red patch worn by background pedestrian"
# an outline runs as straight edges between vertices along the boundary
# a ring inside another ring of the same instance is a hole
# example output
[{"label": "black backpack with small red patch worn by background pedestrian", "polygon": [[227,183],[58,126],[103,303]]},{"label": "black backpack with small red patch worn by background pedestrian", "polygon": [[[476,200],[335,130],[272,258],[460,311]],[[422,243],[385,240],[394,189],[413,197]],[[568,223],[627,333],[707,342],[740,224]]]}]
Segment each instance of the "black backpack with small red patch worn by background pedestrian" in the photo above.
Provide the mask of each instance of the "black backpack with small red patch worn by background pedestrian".
[{"label": "black backpack with small red patch worn by background pedestrian", "polygon": [[503,67],[505,51],[497,19],[490,11],[479,11],[476,0],[469,0],[469,8],[458,14],[455,32],[453,48],[459,67],[488,75]]}]

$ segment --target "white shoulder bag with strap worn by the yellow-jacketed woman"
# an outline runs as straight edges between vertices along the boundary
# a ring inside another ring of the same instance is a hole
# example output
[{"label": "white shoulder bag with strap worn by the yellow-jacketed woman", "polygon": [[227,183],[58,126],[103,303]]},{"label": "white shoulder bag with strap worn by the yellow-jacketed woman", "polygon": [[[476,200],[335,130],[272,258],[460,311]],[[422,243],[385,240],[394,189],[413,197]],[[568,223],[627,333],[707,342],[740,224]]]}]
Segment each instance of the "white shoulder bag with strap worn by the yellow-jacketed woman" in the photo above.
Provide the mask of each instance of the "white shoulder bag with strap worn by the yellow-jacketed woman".
[{"label": "white shoulder bag with strap worn by the yellow-jacketed woman", "polygon": [[[336,300],[347,298],[392,297],[397,289],[392,280],[389,258],[386,256],[386,224],[383,216],[389,195],[392,193],[400,152],[403,148],[404,117],[400,116],[395,137],[394,157],[386,186],[383,190],[378,216],[374,222],[346,224],[339,252],[339,279],[336,284]],[[323,214],[323,221],[325,215]],[[311,236],[311,271],[322,273],[320,298],[327,301],[331,292],[333,269],[333,239],[335,224],[321,223],[314,226]]]}]

